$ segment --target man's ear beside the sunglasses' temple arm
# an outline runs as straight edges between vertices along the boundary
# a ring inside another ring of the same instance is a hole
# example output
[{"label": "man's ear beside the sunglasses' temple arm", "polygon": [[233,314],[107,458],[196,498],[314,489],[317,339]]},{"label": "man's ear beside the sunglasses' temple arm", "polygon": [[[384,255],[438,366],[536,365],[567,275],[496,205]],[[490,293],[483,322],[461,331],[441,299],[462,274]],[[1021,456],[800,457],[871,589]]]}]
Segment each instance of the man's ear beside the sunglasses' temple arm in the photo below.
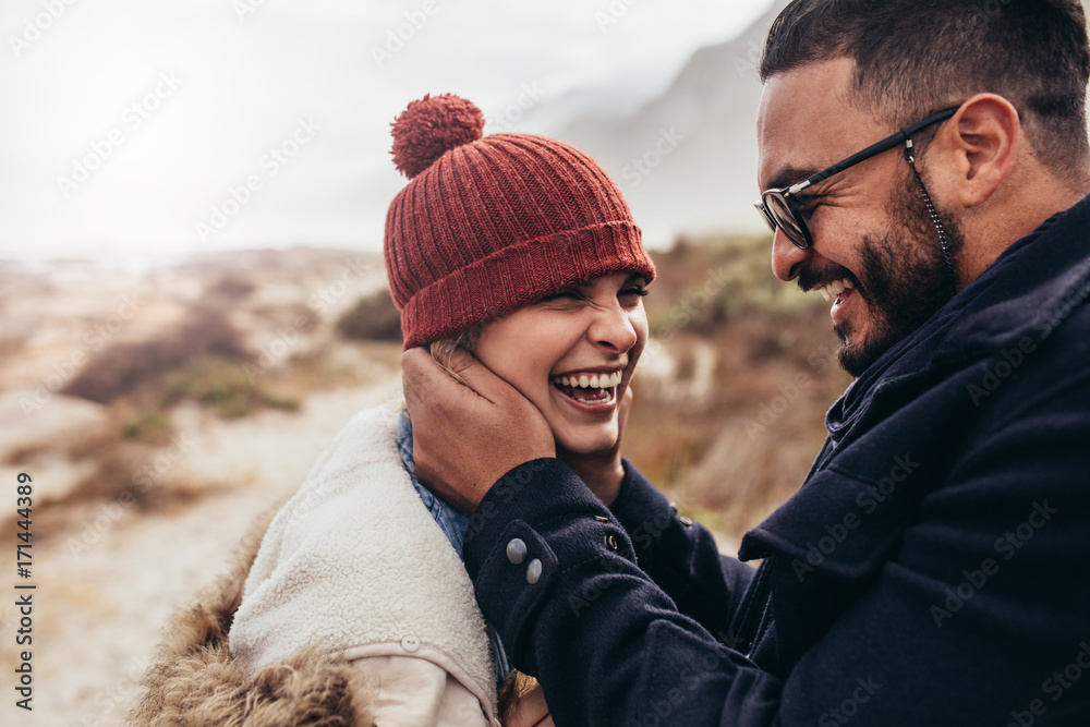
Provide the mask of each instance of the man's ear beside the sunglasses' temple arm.
[{"label": "man's ear beside the sunglasses' temple arm", "polygon": [[1010,174],[1021,142],[1018,110],[1002,96],[977,94],[943,124],[932,145],[953,160],[932,168],[952,184],[962,207],[986,202]]}]

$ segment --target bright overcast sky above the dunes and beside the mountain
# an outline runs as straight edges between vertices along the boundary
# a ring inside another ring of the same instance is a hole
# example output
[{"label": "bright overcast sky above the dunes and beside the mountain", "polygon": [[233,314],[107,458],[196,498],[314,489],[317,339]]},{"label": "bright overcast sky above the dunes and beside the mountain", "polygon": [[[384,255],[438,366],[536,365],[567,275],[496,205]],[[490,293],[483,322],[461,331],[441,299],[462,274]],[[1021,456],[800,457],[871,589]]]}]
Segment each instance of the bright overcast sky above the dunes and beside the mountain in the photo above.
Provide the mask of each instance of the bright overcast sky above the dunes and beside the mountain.
[{"label": "bright overcast sky above the dunes and beside the mountain", "polygon": [[771,0],[3,4],[0,256],[146,259],[379,250],[409,100],[458,93],[495,120],[529,88],[517,128],[545,132],[567,92],[634,108]]}]

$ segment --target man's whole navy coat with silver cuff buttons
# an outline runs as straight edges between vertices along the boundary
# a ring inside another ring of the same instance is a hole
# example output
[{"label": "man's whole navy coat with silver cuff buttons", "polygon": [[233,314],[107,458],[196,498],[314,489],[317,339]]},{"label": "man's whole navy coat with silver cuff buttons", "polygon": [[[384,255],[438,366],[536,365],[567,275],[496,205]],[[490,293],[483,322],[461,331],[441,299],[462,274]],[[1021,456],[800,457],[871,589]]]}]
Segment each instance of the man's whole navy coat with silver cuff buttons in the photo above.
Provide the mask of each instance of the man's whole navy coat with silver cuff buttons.
[{"label": "man's whole navy coat with silver cuff buttons", "polygon": [[755,571],[630,465],[505,475],[467,566],[556,724],[1090,725],[1088,298],[1090,198],[852,384]]}]

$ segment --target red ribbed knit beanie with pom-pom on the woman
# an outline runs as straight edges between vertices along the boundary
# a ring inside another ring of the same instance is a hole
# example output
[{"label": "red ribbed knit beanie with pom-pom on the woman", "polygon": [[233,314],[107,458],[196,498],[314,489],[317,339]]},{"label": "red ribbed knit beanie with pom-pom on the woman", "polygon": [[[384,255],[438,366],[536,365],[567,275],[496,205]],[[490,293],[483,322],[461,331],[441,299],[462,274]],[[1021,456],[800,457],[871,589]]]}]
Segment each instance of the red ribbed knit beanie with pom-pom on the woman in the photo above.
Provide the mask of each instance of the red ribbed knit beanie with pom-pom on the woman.
[{"label": "red ribbed knit beanie with pom-pom on the woman", "polygon": [[390,203],[384,255],[407,350],[601,276],[655,277],[620,190],[579,149],[482,137],[480,109],[451,95],[412,101],[392,126],[411,181]]}]

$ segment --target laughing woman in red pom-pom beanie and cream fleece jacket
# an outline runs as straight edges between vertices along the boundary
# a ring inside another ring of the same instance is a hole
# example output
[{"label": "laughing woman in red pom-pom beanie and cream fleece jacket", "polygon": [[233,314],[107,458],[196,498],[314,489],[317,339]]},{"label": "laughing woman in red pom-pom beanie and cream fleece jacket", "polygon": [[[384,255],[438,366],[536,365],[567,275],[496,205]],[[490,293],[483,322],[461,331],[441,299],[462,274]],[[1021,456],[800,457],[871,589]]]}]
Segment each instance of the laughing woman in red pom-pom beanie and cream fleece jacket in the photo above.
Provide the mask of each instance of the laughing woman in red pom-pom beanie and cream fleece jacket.
[{"label": "laughing woman in red pom-pom beanie and cream fleece jacket", "polygon": [[[654,266],[593,160],[483,126],[449,95],[393,123],[410,182],[384,250],[404,346],[440,363],[470,349],[542,411],[558,457],[608,502]],[[177,621],[137,720],[424,727],[532,713],[540,691],[518,699],[526,686],[511,686],[459,559],[465,529],[416,482],[403,404],[359,413],[259,547]]]}]

